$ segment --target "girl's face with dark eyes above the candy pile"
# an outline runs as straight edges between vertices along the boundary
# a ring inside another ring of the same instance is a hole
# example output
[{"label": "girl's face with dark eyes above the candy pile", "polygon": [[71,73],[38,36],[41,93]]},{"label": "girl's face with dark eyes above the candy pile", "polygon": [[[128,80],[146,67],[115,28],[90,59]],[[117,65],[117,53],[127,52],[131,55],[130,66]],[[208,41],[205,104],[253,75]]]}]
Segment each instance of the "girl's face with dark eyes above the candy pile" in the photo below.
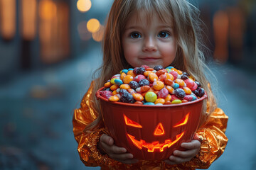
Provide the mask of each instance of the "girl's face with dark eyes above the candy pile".
[{"label": "girl's face with dark eyes above the candy pile", "polygon": [[164,23],[154,15],[148,22],[146,15],[134,13],[127,21],[122,35],[124,57],[132,67],[148,65],[169,66],[176,56],[176,40],[172,23]]}]

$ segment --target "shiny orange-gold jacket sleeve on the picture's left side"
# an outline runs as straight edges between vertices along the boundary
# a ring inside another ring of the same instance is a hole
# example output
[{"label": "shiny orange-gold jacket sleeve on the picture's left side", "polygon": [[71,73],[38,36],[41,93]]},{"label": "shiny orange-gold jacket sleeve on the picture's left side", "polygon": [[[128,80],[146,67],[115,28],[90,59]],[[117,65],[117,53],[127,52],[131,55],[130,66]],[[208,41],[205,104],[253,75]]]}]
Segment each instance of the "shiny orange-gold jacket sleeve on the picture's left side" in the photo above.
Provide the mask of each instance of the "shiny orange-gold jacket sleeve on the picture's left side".
[{"label": "shiny orange-gold jacket sleeve on the picture's left side", "polygon": [[100,140],[100,136],[103,133],[107,133],[105,128],[98,125],[97,130],[85,131],[85,127],[98,116],[92,101],[94,84],[94,81],[92,81],[90,88],[82,98],[80,108],[75,109],[73,115],[73,132],[75,140],[78,142],[78,153],[85,166],[117,164],[116,161],[107,157],[107,154],[101,154],[97,149],[97,142]]}]

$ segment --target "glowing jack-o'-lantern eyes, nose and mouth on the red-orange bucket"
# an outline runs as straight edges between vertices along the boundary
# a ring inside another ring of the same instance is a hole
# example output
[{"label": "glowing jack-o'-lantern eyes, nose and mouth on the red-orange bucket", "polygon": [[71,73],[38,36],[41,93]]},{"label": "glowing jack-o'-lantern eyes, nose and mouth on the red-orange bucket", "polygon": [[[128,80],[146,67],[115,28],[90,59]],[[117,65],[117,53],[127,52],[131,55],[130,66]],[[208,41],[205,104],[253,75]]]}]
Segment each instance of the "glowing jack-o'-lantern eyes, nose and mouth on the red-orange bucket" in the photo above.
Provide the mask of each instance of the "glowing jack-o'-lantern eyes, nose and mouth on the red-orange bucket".
[{"label": "glowing jack-o'-lantern eyes, nose and mouth on the red-orange bucket", "polygon": [[[184,118],[182,118],[178,123],[174,124],[173,128],[181,127],[183,125],[186,125],[188,123],[190,113],[187,113]],[[127,126],[133,127],[133,128],[143,128],[143,125],[140,125],[139,123],[135,122],[134,120],[129,119],[126,115],[124,115],[124,122]],[[179,133],[176,135],[175,139],[171,140],[169,138],[165,139],[164,142],[154,141],[154,142],[146,142],[146,140],[143,139],[135,139],[133,135],[127,133],[127,137],[129,140],[132,141],[133,145],[135,145],[137,148],[142,149],[142,147],[147,149],[147,152],[154,152],[155,149],[158,149],[160,152],[163,152],[165,148],[169,148],[172,145],[174,145],[178,140],[183,137],[185,131]],[[155,137],[164,136],[166,135],[166,132],[164,130],[164,125],[162,123],[158,123],[156,125],[156,128],[154,129],[154,132],[152,132],[152,135]],[[166,135],[168,136],[168,135]]]}]

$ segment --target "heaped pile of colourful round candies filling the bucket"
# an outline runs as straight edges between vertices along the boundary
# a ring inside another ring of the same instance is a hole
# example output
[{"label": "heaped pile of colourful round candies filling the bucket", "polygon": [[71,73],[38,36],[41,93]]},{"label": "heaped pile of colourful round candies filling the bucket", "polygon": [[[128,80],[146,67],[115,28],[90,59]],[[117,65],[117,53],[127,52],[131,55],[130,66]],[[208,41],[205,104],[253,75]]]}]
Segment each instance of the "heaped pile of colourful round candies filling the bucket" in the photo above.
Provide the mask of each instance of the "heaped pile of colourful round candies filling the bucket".
[{"label": "heaped pile of colourful round candies filling the bucket", "polygon": [[123,69],[105,83],[100,95],[109,101],[163,105],[195,101],[205,91],[198,81],[174,67],[142,65]]}]

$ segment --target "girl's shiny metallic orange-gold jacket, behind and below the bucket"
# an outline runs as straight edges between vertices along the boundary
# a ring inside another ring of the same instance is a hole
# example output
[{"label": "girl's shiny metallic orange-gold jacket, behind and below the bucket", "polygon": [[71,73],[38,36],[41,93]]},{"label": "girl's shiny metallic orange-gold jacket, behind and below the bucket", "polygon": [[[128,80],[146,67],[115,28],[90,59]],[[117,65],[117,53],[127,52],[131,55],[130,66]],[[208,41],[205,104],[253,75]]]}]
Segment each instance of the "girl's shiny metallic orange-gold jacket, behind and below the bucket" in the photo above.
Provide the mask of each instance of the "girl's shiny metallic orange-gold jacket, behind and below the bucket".
[{"label": "girl's shiny metallic orange-gold jacket, behind and below the bucket", "polygon": [[210,114],[208,121],[201,125],[196,132],[203,137],[200,152],[189,162],[183,164],[169,165],[161,161],[139,161],[136,164],[122,164],[101,154],[97,149],[97,142],[103,133],[107,133],[104,124],[92,132],[84,132],[85,127],[95,120],[99,113],[93,106],[92,93],[94,81],[90,84],[85,96],[82,98],[79,109],[75,109],[73,115],[73,132],[75,140],[78,142],[78,153],[85,166],[101,166],[102,169],[208,169],[215,159],[223,154],[228,138],[224,132],[227,128],[228,116],[220,109],[216,108]]}]

